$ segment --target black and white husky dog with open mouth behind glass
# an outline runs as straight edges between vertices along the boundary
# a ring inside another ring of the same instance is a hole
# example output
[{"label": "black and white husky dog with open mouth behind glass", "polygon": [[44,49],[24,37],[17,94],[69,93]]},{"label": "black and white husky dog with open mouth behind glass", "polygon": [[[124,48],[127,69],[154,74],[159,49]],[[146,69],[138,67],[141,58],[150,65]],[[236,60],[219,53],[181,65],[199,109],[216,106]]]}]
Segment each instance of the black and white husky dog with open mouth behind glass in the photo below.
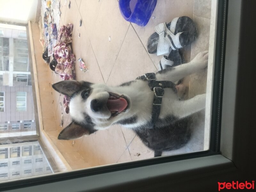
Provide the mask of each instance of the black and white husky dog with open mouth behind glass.
[{"label": "black and white husky dog with open mouth behind glass", "polygon": [[[189,63],[157,72],[156,80],[176,82],[206,68],[207,63],[208,52],[200,52]],[[152,128],[154,92],[149,88],[147,81],[136,79],[109,87],[105,84],[67,80],[53,84],[52,87],[71,98],[69,114],[72,122],[58,136],[58,139],[63,140],[76,139],[107,129],[113,124],[121,124],[133,129],[145,144],[148,141],[145,140],[145,135],[143,136],[143,130],[147,129],[151,129],[152,134],[154,134],[153,130],[162,130],[162,135],[172,134],[173,142],[182,144],[187,142],[190,135],[186,128],[186,117],[205,108],[205,94],[196,95],[188,100],[178,100],[177,93],[166,88],[159,117]],[[180,137],[181,135],[183,137]],[[155,152],[159,151],[154,145],[151,148]],[[161,149],[161,144],[158,148]]]}]

